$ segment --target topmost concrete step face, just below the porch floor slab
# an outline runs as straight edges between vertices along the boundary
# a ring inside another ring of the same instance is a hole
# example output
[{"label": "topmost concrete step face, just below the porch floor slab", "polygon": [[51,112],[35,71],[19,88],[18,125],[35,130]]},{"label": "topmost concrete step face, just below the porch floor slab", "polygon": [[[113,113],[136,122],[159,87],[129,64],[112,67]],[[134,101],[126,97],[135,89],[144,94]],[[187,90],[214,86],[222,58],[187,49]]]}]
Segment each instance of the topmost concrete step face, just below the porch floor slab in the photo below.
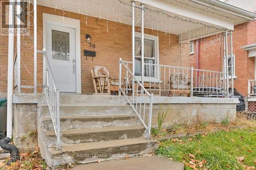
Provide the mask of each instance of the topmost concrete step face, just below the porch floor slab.
[{"label": "topmost concrete step face, just below the porch floor slab", "polygon": [[[38,110],[41,116],[50,116],[47,105],[39,105]],[[112,114],[133,114],[131,106],[127,104],[73,104],[60,105],[60,116],[69,115],[112,115]]]}]

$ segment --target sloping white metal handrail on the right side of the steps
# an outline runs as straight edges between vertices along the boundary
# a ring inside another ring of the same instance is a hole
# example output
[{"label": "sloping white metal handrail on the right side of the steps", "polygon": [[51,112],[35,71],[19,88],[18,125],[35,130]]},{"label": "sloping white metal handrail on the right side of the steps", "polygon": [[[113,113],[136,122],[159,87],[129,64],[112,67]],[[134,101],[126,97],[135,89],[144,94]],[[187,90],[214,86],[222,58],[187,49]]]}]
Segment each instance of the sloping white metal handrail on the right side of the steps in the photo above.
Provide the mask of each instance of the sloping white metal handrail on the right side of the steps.
[{"label": "sloping white metal handrail on the right side of the steps", "polygon": [[[131,63],[132,62],[122,61],[121,58],[119,59],[119,96],[121,96],[122,93],[127,102],[132,106],[140,122],[146,128],[146,137],[150,138],[154,94],[150,94],[133,75],[133,72],[129,68],[129,64]],[[122,67],[124,67],[123,72]],[[133,92],[131,88],[132,80],[135,81]],[[130,98],[130,95],[132,98]],[[146,98],[150,98],[150,101],[145,100]]]}]

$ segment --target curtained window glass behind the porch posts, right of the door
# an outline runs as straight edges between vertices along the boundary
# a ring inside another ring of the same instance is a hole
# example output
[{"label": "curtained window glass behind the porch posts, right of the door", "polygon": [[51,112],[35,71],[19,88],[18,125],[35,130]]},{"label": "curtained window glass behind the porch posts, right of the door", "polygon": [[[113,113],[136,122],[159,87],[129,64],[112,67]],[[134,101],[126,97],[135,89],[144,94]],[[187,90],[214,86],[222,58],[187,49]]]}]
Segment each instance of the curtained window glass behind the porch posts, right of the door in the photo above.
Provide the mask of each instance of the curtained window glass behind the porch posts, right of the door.
[{"label": "curtained window glass behind the porch posts, right of the door", "polygon": [[[155,41],[144,39],[144,63],[155,64]],[[135,76],[141,76],[141,38],[135,38]],[[155,66],[144,65],[144,77],[155,77]]]}]

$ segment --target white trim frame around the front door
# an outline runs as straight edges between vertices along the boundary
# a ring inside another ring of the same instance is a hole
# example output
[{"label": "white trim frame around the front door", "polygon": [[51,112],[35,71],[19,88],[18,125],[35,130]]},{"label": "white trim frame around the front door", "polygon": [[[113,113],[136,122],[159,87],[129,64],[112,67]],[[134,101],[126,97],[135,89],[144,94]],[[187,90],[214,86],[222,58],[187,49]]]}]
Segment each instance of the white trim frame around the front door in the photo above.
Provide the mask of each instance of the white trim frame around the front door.
[{"label": "white trim frame around the front door", "polygon": [[[75,29],[76,34],[76,93],[81,93],[81,53],[80,53],[80,20],[42,13],[43,48],[46,49],[46,23]],[[43,81],[46,80],[45,65],[43,65]]]}]

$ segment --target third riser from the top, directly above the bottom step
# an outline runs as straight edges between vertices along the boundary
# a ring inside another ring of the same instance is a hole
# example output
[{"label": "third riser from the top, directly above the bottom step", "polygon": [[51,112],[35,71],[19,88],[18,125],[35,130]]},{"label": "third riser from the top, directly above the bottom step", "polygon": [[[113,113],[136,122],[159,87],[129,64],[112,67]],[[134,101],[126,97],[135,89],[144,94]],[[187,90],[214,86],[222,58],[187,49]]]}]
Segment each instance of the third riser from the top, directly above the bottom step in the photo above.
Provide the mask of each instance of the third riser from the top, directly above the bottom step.
[{"label": "third riser from the top, directly above the bottom step", "polygon": [[[119,139],[134,139],[142,137],[145,129],[131,129],[122,131],[96,132],[96,133],[82,133],[82,134],[62,134],[61,142],[65,144],[97,142],[107,140]],[[141,133],[142,134],[141,134]],[[53,148],[56,143],[55,136],[47,136],[47,143],[49,148]]]}]

